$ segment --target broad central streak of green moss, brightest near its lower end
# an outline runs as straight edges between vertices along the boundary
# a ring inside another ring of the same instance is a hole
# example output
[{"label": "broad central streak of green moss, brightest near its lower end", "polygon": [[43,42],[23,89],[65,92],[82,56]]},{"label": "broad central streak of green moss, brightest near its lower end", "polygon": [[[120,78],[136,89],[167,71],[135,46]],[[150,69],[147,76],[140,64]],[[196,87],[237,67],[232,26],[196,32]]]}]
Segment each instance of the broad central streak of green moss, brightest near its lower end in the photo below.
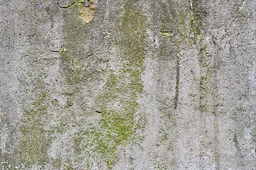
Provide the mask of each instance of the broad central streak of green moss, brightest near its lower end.
[{"label": "broad central streak of green moss, brightest near its lower end", "polygon": [[110,169],[117,148],[135,140],[139,109],[137,99],[143,94],[145,17],[131,5],[122,9],[116,30],[115,45],[119,49],[119,71],[108,69],[102,94],[97,98],[100,128],[90,132],[90,145],[95,159],[106,159]]}]

